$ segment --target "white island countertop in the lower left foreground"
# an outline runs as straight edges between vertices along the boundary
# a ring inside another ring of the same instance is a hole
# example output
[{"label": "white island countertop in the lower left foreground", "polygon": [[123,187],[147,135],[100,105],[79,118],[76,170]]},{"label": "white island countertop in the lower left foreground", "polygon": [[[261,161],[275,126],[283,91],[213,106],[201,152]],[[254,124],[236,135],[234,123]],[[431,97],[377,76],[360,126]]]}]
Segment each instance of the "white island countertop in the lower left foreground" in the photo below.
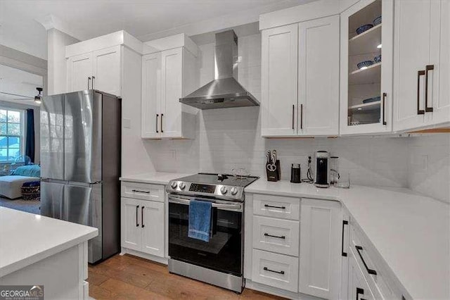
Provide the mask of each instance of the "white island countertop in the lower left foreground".
[{"label": "white island countertop in the lower left foreground", "polygon": [[0,207],[0,277],[98,235],[98,229]]}]

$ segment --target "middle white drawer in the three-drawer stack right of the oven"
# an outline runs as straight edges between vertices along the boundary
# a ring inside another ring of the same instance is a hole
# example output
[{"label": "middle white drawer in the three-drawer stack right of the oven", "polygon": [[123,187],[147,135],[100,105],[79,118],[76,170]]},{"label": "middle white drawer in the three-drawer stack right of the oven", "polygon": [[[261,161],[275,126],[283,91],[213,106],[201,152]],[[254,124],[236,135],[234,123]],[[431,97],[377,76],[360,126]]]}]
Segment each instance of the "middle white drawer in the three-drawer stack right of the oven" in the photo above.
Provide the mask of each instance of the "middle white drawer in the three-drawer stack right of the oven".
[{"label": "middle white drawer in the three-drawer stack right of the oven", "polygon": [[253,217],[253,248],[298,256],[300,223],[267,217]]}]

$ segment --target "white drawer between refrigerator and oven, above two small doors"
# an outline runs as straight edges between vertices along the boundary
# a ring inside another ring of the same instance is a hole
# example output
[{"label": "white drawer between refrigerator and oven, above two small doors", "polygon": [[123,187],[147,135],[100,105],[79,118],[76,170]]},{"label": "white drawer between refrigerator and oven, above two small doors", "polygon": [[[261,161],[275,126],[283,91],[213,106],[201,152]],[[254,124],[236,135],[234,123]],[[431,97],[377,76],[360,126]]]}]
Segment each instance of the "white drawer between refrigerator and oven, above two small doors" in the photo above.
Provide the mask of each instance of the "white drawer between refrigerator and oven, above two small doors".
[{"label": "white drawer between refrigerator and oven, above two small doors", "polygon": [[122,181],[122,197],[164,202],[164,185]]}]

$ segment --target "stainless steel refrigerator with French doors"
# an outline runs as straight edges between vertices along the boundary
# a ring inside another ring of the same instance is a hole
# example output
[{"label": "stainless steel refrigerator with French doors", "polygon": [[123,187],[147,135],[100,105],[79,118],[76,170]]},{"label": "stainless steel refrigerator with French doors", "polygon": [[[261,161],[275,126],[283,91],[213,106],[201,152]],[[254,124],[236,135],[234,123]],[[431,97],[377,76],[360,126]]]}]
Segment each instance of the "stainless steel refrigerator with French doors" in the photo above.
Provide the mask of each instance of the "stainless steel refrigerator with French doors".
[{"label": "stainless steel refrigerator with French doors", "polygon": [[97,227],[89,263],[120,249],[120,120],[121,100],[94,89],[42,99],[41,215]]}]

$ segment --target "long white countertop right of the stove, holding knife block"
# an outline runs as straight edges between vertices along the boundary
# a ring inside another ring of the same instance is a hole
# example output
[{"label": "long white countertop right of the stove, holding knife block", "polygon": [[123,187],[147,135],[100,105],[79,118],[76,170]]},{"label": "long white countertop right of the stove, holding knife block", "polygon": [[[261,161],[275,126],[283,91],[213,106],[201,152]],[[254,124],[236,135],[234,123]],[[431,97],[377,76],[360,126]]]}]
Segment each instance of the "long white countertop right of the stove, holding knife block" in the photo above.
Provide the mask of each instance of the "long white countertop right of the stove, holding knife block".
[{"label": "long white countertop right of the stove, holding knife block", "polygon": [[247,193],[340,201],[413,299],[450,299],[450,205],[410,189],[267,182]]}]

